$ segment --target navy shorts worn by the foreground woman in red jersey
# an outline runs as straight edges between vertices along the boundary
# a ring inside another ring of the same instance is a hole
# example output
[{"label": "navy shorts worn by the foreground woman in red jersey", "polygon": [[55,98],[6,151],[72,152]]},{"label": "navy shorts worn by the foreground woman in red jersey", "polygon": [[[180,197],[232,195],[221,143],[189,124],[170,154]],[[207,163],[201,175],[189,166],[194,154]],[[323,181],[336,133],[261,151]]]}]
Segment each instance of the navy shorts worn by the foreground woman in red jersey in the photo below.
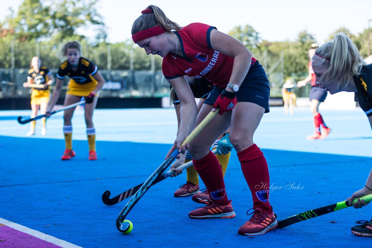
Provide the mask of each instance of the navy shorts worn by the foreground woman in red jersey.
[{"label": "navy shorts worn by the foreground woman in red jersey", "polygon": [[[217,97],[225,89],[214,86],[209,96],[205,99],[206,104],[214,104]],[[265,113],[270,111],[269,109],[269,97],[270,87],[269,80],[262,65],[258,61],[254,63],[249,69],[243,83],[239,87],[239,91],[236,95],[238,102],[250,102],[256,103],[257,105],[265,109]]]}]

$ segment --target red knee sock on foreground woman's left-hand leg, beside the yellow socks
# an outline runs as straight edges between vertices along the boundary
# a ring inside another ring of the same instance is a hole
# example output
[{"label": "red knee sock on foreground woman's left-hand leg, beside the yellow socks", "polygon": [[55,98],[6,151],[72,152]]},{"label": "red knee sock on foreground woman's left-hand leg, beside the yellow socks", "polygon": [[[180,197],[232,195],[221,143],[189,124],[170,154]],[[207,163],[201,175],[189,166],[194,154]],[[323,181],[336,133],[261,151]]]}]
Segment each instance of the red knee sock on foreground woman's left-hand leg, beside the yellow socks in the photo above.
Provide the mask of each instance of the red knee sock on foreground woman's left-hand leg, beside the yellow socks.
[{"label": "red knee sock on foreground woman's left-hand leg, beside the yellow socks", "polygon": [[208,155],[201,160],[192,160],[192,162],[207,187],[211,199],[221,205],[228,204],[224,175],[213,152],[209,151]]}]

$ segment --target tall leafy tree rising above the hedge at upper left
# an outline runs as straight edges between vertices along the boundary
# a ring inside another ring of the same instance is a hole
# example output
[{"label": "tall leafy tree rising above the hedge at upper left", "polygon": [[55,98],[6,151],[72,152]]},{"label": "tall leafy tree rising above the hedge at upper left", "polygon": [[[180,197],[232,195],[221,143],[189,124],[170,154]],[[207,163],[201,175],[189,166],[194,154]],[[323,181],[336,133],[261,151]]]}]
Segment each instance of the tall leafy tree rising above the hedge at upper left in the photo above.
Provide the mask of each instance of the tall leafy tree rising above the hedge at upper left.
[{"label": "tall leafy tree rising above the hedge at upper left", "polygon": [[78,28],[93,25],[100,27],[97,36],[105,38],[107,34],[96,3],[97,0],[24,0],[17,15],[11,11],[0,23],[0,35],[10,35],[20,41],[48,40],[52,36],[60,40],[77,35]]}]

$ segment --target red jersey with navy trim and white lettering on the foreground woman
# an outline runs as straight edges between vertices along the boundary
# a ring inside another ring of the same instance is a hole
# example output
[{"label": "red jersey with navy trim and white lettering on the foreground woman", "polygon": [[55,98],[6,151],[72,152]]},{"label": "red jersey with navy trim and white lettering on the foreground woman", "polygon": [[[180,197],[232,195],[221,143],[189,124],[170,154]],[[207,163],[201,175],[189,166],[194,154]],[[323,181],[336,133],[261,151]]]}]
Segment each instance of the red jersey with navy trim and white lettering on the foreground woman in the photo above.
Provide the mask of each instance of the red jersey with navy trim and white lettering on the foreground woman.
[{"label": "red jersey with navy trim and white lettering on the foreground woman", "polygon": [[[215,27],[191,23],[175,32],[181,44],[182,56],[173,58],[169,53],[163,58],[163,75],[174,79],[183,75],[205,78],[217,87],[226,87],[232,72],[234,58],[212,49],[211,30]],[[251,64],[256,59],[252,58]]]}]

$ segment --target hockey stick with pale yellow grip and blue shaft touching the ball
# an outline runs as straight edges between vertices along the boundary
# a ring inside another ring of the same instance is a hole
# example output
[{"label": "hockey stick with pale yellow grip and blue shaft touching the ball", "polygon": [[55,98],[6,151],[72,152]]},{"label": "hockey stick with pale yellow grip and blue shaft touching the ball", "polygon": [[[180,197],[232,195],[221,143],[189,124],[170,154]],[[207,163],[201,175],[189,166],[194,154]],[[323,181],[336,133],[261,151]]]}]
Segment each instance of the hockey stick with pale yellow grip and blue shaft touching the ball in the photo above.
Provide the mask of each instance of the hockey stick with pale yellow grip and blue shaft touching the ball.
[{"label": "hockey stick with pale yellow grip and blue shaft touching the ball", "polygon": [[[186,143],[190,143],[198,133],[202,131],[202,129],[215,117],[218,113],[218,110],[211,111],[209,114],[204,118],[204,120],[187,136],[185,141],[182,142],[182,146]],[[157,180],[158,177],[166,170],[168,165],[176,158],[179,154],[177,149],[175,149],[172,154],[154,171],[153,174],[150,175],[149,178],[142,184],[141,188],[132,196],[132,198],[126,203],[124,208],[121,210],[118,218],[116,218],[116,228],[119,232],[125,233],[129,230],[130,226],[123,223],[126,215],[128,215],[129,211],[134,207],[134,205],[141,199],[141,197],[146,193],[148,189],[154,184],[154,181]]]}]

